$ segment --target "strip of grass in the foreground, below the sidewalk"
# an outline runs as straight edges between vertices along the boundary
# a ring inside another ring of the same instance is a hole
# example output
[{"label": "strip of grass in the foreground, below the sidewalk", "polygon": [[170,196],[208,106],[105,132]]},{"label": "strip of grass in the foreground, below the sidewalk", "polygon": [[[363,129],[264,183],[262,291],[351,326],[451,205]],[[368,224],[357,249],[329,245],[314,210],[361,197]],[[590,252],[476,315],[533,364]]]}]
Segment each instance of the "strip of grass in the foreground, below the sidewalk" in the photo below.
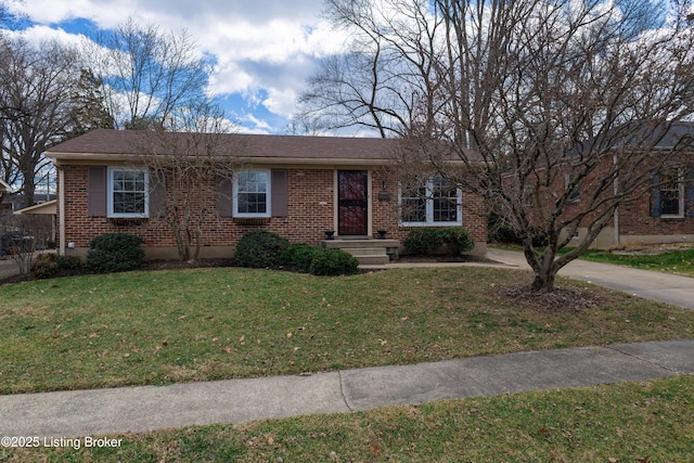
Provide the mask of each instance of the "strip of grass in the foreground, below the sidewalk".
[{"label": "strip of grass in the foreground, below the sidewalk", "polygon": [[692,462],[694,376],[1,449],[8,462]]}]

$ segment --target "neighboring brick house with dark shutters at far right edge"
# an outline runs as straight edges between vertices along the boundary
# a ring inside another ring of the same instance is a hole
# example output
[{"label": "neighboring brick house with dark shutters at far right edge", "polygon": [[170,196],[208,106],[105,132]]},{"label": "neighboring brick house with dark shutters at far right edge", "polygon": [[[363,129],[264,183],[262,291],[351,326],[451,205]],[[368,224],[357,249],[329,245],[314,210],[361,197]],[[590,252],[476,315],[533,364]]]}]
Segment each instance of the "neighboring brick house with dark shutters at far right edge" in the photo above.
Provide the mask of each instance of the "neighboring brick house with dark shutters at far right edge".
[{"label": "neighboring brick house with dark shutters at far right edge", "polygon": [[[659,153],[670,152],[681,143],[685,146],[665,166],[652,171],[650,184],[635,195],[635,201],[619,206],[595,240],[594,247],[694,242],[693,137],[694,123],[678,123],[669,129],[653,150],[654,162]],[[600,177],[601,169],[595,175]],[[579,205],[582,194],[586,193],[577,194],[575,198]],[[586,230],[579,229],[579,236],[583,233]]]}]

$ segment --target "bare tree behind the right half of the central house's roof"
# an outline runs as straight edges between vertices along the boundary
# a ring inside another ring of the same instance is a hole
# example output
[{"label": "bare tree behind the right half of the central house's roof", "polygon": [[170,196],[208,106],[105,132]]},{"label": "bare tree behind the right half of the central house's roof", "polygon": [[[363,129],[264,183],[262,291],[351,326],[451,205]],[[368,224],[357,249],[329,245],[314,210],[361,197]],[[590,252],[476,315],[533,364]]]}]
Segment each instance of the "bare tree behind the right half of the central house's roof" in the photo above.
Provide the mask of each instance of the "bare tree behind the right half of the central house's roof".
[{"label": "bare tree behind the right half of the central house's roof", "polygon": [[425,1],[326,0],[325,16],[349,31],[348,51],[324,59],[299,97],[296,118],[323,130],[360,128],[402,136],[433,117],[440,22]]}]

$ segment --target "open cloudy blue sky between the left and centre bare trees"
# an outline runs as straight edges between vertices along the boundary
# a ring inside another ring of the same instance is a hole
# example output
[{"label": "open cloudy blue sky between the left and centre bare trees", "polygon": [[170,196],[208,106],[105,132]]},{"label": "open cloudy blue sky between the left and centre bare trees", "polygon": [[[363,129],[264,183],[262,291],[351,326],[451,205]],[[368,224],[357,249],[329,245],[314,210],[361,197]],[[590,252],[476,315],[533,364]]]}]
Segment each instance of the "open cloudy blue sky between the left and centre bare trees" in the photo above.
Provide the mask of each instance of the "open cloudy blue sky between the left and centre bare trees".
[{"label": "open cloudy blue sky between the left and centre bare trees", "polygon": [[214,56],[211,93],[240,132],[282,133],[321,57],[345,37],[321,18],[322,0],[0,0],[22,13],[30,40],[77,41],[133,18],[185,29]]}]

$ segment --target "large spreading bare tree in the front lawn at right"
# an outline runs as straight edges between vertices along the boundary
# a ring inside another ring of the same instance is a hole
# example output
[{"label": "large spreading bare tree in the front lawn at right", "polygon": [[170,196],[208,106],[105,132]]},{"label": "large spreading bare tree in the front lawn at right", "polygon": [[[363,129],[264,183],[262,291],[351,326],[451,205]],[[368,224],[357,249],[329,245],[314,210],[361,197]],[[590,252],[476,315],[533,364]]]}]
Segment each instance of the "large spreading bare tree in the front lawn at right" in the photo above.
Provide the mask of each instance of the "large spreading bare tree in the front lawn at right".
[{"label": "large spreading bare tree in the front lawn at right", "polygon": [[[485,197],[522,236],[535,290],[551,291],[557,271],[588,248],[616,208],[643,195],[654,169],[691,143],[678,124],[693,113],[687,1],[377,3],[419,9],[437,33],[424,44],[421,25],[397,35],[407,41],[402,50],[433,63],[425,86],[433,103],[420,106],[404,130],[406,171],[420,162],[415,170]],[[357,31],[383,23],[374,14],[350,18]],[[587,230],[579,244],[560,255],[579,228]]]}]

